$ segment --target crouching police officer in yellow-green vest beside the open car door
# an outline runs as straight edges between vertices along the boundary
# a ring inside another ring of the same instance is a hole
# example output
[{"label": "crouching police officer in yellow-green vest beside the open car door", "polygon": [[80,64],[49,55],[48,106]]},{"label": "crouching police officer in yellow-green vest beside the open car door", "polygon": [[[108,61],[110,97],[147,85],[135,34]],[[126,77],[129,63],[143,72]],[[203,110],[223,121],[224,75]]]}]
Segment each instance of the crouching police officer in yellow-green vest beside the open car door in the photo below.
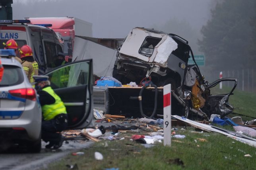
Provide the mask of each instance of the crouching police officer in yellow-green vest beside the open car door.
[{"label": "crouching police officer in yellow-green vest beside the open car door", "polygon": [[42,139],[45,142],[49,141],[46,148],[58,149],[62,146],[64,137],[56,132],[62,132],[68,126],[66,107],[50,87],[48,76],[33,76],[33,78],[43,112]]}]

